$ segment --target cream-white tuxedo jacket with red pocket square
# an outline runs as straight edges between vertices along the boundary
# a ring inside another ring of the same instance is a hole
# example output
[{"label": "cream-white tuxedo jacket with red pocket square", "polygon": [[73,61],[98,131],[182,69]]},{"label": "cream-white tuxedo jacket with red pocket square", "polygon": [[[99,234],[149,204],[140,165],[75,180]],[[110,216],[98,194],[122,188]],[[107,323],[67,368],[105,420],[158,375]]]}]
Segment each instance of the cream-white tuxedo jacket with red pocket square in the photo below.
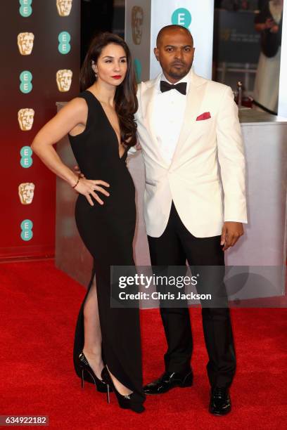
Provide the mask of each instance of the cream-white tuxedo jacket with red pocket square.
[{"label": "cream-white tuxedo jacket with red pocket square", "polygon": [[[189,72],[184,123],[172,163],[167,165],[151,122],[160,76],[139,84],[136,112],[146,168],[147,233],[162,235],[173,200],[181,221],[194,236],[220,235],[223,221],[247,221],[245,159],[234,95],[229,86]],[[210,119],[196,121],[204,112],[210,112]]]}]

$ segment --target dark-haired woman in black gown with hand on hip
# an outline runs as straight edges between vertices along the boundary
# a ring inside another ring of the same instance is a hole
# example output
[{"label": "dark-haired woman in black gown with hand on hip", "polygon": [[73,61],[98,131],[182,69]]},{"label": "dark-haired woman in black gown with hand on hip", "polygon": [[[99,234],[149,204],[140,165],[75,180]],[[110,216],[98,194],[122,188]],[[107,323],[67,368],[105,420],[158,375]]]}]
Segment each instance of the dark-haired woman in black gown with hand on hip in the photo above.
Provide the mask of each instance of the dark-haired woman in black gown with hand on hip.
[{"label": "dark-haired woman in black gown with hand on hip", "polygon": [[[77,320],[75,370],[82,386],[84,379],[101,392],[111,386],[120,407],[142,412],[139,308],[110,307],[110,266],[134,266],[134,183],[125,160],[136,144],[137,100],[125,41],[110,33],[95,37],[80,82],[82,93],[39,131],[32,149],[79,193],[77,228],[94,257]],[[83,177],[65,166],[53,149],[67,133]]]}]

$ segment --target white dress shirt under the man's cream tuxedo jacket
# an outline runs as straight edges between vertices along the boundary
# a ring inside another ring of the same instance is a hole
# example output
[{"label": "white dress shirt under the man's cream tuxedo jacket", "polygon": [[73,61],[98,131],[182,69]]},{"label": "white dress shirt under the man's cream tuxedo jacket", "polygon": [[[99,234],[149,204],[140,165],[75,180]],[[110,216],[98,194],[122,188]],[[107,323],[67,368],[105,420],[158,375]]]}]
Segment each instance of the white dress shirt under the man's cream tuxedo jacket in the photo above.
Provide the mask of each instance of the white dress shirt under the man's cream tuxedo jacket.
[{"label": "white dress shirt under the man's cream tuxedo jacket", "polygon": [[[172,162],[174,150],[179,140],[182,123],[184,121],[184,111],[186,108],[186,96],[179,93],[176,89],[160,91],[160,81],[167,81],[162,73],[158,82],[157,93],[153,105],[153,129],[158,139],[158,148],[160,155],[168,165]],[[187,76],[179,82],[186,82],[186,93],[189,91],[189,82]],[[177,84],[179,84],[177,82]],[[169,82],[171,84],[171,82]]]}]

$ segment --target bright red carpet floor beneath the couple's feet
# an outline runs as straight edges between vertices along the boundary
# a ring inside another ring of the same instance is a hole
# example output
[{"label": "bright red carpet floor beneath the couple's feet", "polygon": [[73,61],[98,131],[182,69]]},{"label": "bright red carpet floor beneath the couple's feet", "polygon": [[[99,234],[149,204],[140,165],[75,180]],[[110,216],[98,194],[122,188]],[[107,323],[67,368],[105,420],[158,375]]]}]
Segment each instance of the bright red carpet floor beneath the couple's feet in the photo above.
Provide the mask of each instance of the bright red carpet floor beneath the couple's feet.
[{"label": "bright red carpet floor beneath the couple's feet", "polygon": [[[238,367],[227,417],[208,413],[207,361],[200,310],[192,310],[195,381],[189,389],[149,396],[136,415],[80,380],[72,344],[84,288],[53,261],[0,264],[0,415],[49,415],[51,429],[287,428],[286,309],[232,310]],[[165,351],[157,310],[141,312],[144,380],[162,372]]]}]

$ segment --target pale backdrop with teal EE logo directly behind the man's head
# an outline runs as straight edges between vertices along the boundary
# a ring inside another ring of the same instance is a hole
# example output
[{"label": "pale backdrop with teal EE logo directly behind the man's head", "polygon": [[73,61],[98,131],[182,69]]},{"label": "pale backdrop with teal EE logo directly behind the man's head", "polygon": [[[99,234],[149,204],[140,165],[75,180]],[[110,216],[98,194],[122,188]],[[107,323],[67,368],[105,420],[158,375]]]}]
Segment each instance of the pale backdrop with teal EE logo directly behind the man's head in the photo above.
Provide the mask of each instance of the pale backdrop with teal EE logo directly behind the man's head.
[{"label": "pale backdrop with teal EE logo directly behind the man's head", "polygon": [[160,29],[171,24],[182,25],[191,31],[196,48],[194,70],[210,79],[213,15],[213,0],[126,0],[125,40],[134,56],[137,81],[153,79],[161,72],[153,48]]}]

